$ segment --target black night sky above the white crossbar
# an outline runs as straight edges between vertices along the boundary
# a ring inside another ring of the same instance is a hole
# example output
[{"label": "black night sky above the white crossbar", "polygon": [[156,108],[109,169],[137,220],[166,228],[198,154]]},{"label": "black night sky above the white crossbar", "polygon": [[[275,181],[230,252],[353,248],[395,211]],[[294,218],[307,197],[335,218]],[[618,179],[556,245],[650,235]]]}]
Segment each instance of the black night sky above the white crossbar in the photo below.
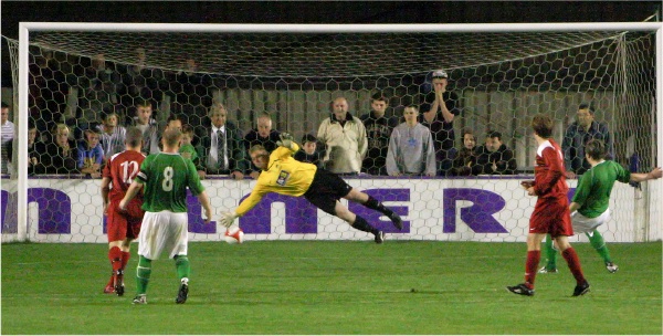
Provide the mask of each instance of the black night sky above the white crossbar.
[{"label": "black night sky above the white crossbar", "polygon": [[[661,1],[2,1],[1,33],[19,22],[501,23],[640,22]],[[2,41],[2,86],[11,85]]]}]

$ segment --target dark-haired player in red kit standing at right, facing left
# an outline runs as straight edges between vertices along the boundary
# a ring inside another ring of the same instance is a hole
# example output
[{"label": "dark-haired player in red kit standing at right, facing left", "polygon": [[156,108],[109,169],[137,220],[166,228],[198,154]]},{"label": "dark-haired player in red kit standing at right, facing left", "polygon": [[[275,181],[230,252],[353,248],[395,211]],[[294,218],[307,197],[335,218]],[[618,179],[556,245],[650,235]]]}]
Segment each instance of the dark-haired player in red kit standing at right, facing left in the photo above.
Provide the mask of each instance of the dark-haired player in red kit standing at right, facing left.
[{"label": "dark-haired player in red kit standing at right, facing left", "polygon": [[567,198],[569,187],[565,178],[562,151],[551,137],[552,126],[552,119],[546,115],[539,114],[532,119],[534,138],[538,144],[534,181],[523,181],[520,185],[529,196],[538,196],[538,200],[529,218],[525,283],[506,287],[514,294],[534,295],[534,279],[541,258],[541,240],[547,233],[557,242],[571,274],[576,277],[573,296],[589,292],[589,283],[582,275],[578,254],[569,244],[569,235],[573,235]]}]

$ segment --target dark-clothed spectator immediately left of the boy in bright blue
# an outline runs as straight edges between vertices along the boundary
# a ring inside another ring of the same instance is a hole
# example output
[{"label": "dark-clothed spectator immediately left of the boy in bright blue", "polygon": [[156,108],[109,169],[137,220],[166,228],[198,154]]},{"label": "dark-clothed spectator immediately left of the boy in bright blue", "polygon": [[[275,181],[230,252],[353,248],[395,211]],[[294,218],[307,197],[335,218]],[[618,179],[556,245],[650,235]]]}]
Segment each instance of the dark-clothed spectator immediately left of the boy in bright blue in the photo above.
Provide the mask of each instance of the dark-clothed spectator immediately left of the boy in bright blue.
[{"label": "dark-clothed spectator immediately left of the boy in bright blue", "polygon": [[70,140],[70,128],[64,124],[55,125],[53,137],[46,144],[46,151],[40,157],[46,174],[77,172],[77,151],[74,141]]}]

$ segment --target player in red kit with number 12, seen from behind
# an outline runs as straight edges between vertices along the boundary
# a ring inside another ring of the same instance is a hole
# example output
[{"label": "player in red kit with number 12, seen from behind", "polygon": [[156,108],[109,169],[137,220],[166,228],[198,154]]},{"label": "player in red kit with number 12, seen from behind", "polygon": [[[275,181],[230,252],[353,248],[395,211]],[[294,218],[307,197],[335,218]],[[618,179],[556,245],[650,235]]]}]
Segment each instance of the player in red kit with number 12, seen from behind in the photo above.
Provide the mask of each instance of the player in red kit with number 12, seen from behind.
[{"label": "player in red kit with number 12, seen from behind", "polygon": [[104,293],[115,292],[118,296],[124,294],[124,269],[129,261],[129,245],[138,238],[140,222],[145,211],[143,196],[138,195],[126,207],[125,211],[118,208],[140,170],[145,155],[140,153],[143,133],[136,127],[127,130],[125,150],[110,157],[103,171],[102,197],[104,198],[104,214],[106,214],[108,233],[108,260],[113,266],[110,280]]}]

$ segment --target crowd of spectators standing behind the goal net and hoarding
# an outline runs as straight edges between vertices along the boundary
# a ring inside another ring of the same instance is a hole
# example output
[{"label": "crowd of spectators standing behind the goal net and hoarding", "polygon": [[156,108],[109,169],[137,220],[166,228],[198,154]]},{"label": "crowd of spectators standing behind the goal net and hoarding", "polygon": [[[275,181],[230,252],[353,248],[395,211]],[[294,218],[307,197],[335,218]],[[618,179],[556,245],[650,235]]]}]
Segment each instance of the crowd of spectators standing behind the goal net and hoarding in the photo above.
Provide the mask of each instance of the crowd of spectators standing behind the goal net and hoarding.
[{"label": "crowd of spectators standing behind the goal net and hoarding", "polygon": [[[194,161],[200,177],[256,178],[249,148],[263,145],[271,151],[280,133],[288,132],[275,129],[274,115],[266,112],[245,129],[229,120],[227,106],[212,97],[214,87],[204,80],[210,76],[197,74],[192,60],[182,71],[167,71],[114,63],[103,55],[57,60],[44,52],[33,57],[28,138],[31,176],[99,178],[105,162],[122,151],[128,127],[143,130],[146,155],[160,150],[159,136],[166,128],[178,127],[186,134],[182,155]],[[403,99],[402,113],[393,116],[386,114],[391,97],[379,90],[370,98],[369,112],[351,111],[344,96],[334,97],[329,111],[320,112],[329,117],[319,124],[317,134],[306,133],[297,139],[302,150],[296,158],[341,175],[517,174],[515,154],[504,141],[503,130],[487,129],[485,139],[476,137],[483,129],[465,128],[456,136],[453,120],[463,114],[459,96],[446,91],[445,71],[433,71],[429,93],[420,99]],[[172,103],[159,104],[165,99]],[[3,103],[3,175],[15,159],[9,109]],[[566,130],[562,147],[568,177],[587,169],[582,146],[589,139],[604,140],[609,154],[613,153],[610,130],[594,120],[593,114],[591,103],[580,104],[577,122]]]}]

